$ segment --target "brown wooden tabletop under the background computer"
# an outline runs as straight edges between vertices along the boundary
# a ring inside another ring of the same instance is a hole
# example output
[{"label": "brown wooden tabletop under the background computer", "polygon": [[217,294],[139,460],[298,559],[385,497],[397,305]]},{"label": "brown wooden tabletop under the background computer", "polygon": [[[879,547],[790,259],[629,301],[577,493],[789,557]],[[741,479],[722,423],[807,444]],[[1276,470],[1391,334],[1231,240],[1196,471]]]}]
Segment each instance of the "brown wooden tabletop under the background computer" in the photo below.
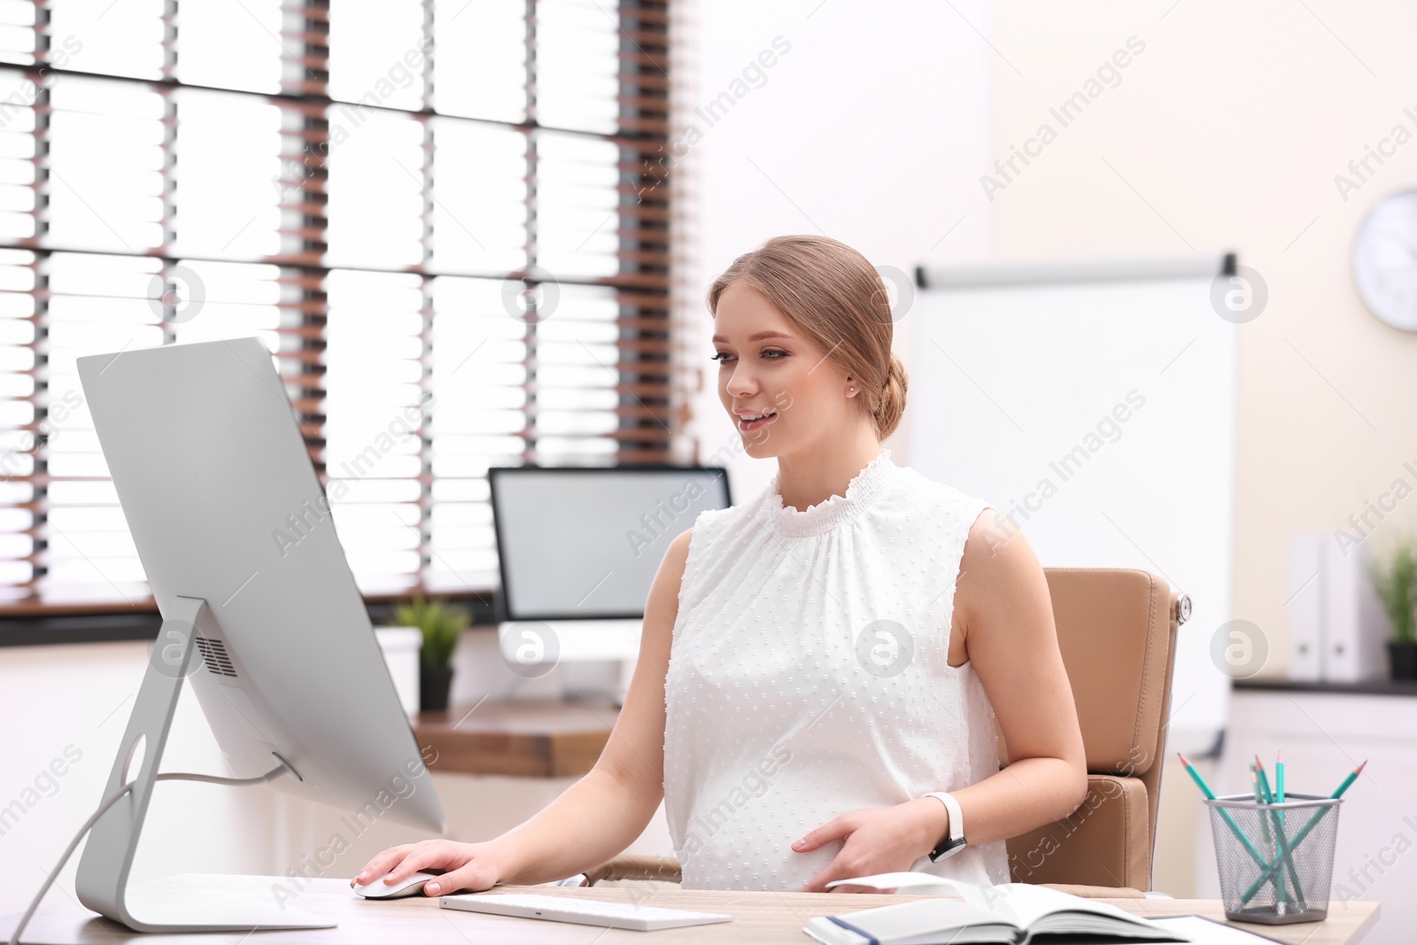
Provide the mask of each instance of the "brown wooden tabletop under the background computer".
[{"label": "brown wooden tabletop under the background computer", "polygon": [[432,771],[521,778],[574,778],[595,765],[619,708],[611,703],[483,703],[422,713],[414,723]]}]

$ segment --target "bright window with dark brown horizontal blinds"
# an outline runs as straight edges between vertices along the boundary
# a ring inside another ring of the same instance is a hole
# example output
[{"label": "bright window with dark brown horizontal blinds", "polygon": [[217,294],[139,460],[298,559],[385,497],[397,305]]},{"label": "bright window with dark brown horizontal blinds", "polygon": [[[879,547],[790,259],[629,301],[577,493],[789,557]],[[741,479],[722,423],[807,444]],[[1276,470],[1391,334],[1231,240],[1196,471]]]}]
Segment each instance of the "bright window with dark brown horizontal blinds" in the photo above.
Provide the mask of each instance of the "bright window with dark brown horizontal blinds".
[{"label": "bright window with dark brown horizontal blinds", "polygon": [[492,465],[669,460],[667,33],[0,0],[0,613],[153,605],[85,354],[265,340],[371,598],[495,585]]}]

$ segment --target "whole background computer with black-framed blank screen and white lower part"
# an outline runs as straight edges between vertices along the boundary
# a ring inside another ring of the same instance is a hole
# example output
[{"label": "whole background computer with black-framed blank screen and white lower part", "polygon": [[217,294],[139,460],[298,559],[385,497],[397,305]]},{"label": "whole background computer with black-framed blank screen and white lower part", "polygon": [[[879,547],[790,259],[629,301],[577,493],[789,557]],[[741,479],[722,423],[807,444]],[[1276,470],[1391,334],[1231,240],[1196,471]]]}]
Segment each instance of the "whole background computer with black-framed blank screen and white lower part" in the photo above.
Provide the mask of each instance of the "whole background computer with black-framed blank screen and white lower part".
[{"label": "whole background computer with black-framed blank screen and white lower part", "polygon": [[[509,698],[623,703],[639,657],[645,602],[673,536],[727,509],[717,466],[492,466],[492,523],[504,622],[472,674]],[[490,636],[490,635],[487,635]],[[466,677],[461,684],[472,694]],[[479,693],[482,694],[482,693]]]}]

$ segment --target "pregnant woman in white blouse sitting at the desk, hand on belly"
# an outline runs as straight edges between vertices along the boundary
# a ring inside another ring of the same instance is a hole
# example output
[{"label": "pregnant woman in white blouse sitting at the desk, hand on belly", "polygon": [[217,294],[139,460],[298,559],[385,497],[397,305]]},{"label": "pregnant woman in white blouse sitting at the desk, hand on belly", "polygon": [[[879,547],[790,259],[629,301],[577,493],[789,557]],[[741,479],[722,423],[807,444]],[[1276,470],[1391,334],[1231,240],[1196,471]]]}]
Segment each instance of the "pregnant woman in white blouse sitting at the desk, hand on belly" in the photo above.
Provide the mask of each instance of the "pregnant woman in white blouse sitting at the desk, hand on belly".
[{"label": "pregnant woman in white blouse sitting at the desk, hand on belly", "polygon": [[[714,281],[708,307],[718,398],[745,452],[777,458],[771,486],[670,544],[589,774],[495,840],[391,847],[356,883],[429,867],[445,874],[428,895],[560,880],[621,853],[660,799],[684,888],[823,891],[896,870],[1006,883],[1003,840],[1083,802],[1037,558],[983,500],[880,445],[905,371],[876,269],[835,239],[778,237]],[[932,860],[952,809],[966,843]]]}]

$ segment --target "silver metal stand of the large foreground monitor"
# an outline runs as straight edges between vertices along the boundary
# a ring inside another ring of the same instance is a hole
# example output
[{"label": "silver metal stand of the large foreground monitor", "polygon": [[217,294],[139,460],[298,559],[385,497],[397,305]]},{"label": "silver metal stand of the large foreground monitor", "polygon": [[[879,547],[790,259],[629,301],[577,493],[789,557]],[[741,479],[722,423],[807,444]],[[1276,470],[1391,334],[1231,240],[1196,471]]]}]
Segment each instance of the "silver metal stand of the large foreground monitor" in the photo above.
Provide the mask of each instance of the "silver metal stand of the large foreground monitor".
[{"label": "silver metal stand of the large foreground monitor", "polygon": [[[245,897],[234,901],[204,898],[181,902],[143,901],[140,897],[140,901],[132,904],[140,915],[130,910],[128,878],[147,815],[147,802],[157,781],[157,765],[167,744],[183,680],[190,674],[193,660],[200,659],[193,653],[197,649],[193,640],[203,636],[204,629],[220,636],[214,622],[215,616],[204,598],[179,596],[171,612],[163,615],[103,798],[112,798],[129,781],[133,782],[133,789],[109,808],[89,833],[75,880],[79,902],[137,932],[332,928],[336,922],[322,915]],[[129,772],[129,766],[139,747],[143,758],[135,775]],[[289,768],[283,758],[278,761]]]}]

